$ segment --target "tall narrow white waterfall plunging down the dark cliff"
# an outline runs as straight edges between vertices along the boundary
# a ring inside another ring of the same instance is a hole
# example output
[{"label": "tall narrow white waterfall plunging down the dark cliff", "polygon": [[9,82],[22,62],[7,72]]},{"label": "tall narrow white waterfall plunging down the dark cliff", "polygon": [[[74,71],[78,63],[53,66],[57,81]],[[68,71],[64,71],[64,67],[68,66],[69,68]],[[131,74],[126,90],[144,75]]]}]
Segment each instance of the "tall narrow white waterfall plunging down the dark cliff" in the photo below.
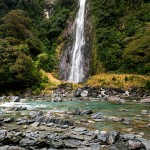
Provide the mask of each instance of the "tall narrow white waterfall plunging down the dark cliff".
[{"label": "tall narrow white waterfall plunging down the dark cliff", "polygon": [[85,44],[84,39],[84,21],[85,21],[85,3],[86,0],[79,0],[80,8],[76,18],[76,37],[73,46],[72,64],[69,76],[71,82],[82,82],[84,78],[83,62],[82,62],[82,47]]}]

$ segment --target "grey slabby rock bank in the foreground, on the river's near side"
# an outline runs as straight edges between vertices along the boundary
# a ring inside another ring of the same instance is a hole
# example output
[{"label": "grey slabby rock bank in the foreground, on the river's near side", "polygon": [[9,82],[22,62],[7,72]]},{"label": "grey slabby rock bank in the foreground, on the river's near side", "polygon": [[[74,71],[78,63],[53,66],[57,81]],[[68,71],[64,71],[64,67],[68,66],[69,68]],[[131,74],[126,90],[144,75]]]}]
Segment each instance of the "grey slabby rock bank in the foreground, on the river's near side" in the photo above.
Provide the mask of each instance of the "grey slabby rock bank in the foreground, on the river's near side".
[{"label": "grey slabby rock bank in the foreground, on the river's near side", "polygon": [[[77,125],[69,117],[65,119],[66,116],[54,117],[39,111],[18,119],[1,118],[0,149],[150,150],[150,141],[141,135],[91,130]],[[92,117],[96,119],[102,115],[93,114]],[[11,128],[8,129],[7,124]]]}]

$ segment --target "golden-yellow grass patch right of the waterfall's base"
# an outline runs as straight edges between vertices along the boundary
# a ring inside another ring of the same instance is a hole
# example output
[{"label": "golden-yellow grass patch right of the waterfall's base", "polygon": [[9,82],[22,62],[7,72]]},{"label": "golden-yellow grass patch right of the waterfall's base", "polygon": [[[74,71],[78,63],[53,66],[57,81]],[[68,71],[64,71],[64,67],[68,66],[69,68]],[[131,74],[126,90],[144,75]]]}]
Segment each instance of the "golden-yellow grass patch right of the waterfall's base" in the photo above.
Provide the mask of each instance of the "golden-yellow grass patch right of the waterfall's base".
[{"label": "golden-yellow grass patch right of the waterfall's base", "polygon": [[132,87],[147,88],[146,83],[148,82],[150,82],[150,77],[142,75],[101,73],[89,78],[86,84],[89,86],[129,89]]}]

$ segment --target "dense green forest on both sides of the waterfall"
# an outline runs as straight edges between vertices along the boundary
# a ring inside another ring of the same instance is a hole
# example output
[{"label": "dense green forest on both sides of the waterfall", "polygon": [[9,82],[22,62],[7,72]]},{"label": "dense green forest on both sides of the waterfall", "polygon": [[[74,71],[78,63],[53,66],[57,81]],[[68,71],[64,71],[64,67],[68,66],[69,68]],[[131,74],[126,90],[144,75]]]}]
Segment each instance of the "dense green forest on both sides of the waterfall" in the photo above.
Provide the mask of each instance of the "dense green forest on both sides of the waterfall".
[{"label": "dense green forest on both sides of the waterfall", "polygon": [[[91,73],[150,74],[150,2],[89,0]],[[42,88],[77,0],[0,0],[0,89]],[[44,10],[52,9],[47,19]]]}]

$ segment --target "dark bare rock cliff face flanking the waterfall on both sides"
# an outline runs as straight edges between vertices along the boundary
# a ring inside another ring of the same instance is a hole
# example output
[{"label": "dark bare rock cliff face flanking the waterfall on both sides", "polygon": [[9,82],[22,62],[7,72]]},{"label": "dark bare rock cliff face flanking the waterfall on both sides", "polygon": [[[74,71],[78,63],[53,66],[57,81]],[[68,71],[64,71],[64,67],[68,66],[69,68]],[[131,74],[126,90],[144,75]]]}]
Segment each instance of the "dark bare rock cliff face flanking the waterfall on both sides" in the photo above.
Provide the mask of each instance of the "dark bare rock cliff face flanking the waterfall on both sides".
[{"label": "dark bare rock cliff face flanking the waterfall on both sides", "polygon": [[[82,63],[84,65],[83,70],[85,73],[83,81],[85,81],[89,76],[90,63],[91,63],[91,39],[92,39],[92,24],[90,16],[90,6],[89,2],[86,2],[86,12],[85,12],[85,45],[82,48]],[[68,80],[69,73],[71,69],[71,59],[73,53],[73,44],[75,42],[75,19],[69,22],[68,28],[64,32],[64,46],[61,50],[60,56],[60,79]]]}]

